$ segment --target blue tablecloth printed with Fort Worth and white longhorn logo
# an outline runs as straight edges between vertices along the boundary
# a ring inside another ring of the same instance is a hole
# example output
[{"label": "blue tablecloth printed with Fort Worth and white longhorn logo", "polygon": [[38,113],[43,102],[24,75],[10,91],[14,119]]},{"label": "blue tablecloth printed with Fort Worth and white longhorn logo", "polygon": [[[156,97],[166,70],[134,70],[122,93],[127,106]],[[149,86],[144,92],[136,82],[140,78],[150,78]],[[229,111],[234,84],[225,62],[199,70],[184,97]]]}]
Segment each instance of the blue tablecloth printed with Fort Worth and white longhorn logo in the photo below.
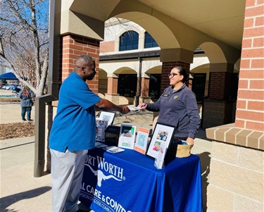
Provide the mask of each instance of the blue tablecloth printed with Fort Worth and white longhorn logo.
[{"label": "blue tablecloth printed with Fort Worth and white longhorn logo", "polygon": [[175,158],[158,170],[137,151],[89,150],[80,201],[96,212],[202,212],[198,156]]}]

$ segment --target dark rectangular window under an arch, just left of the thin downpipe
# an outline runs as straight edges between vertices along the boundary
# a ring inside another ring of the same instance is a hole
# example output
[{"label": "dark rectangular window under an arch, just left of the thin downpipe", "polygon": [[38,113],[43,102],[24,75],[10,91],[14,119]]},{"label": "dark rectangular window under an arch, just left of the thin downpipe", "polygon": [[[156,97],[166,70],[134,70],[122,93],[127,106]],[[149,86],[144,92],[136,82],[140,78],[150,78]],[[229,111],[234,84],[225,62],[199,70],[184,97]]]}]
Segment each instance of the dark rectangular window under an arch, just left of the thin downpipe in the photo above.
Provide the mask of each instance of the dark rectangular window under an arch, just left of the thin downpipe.
[{"label": "dark rectangular window under an arch, just left of the thin downpipe", "polygon": [[133,97],[137,92],[137,74],[120,74],[118,77],[118,94]]}]

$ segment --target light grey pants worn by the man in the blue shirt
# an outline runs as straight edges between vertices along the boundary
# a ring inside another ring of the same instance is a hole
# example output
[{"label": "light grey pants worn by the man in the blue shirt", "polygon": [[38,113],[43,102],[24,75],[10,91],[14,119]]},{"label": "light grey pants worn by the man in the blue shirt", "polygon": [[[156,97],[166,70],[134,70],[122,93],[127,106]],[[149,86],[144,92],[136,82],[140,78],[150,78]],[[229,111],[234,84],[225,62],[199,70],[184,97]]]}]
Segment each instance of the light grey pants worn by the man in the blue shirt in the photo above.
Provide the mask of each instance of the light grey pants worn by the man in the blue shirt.
[{"label": "light grey pants worn by the man in the blue shirt", "polygon": [[51,151],[51,182],[53,212],[75,212],[82,184],[88,150]]}]

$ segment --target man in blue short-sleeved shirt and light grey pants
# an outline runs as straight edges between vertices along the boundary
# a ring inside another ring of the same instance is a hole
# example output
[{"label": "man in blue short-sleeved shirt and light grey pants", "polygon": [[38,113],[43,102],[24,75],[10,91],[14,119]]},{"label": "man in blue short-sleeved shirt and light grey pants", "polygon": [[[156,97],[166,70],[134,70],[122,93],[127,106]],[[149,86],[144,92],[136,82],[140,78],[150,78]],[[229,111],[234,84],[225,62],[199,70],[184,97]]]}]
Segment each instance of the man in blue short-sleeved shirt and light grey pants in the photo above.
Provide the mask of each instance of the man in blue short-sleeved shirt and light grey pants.
[{"label": "man in blue short-sleeved shirt and light grey pants", "polygon": [[103,111],[128,113],[127,106],[118,106],[101,99],[88,87],[86,80],[96,74],[95,61],[82,55],[75,61],[73,73],[64,80],[58,96],[58,109],[51,127],[51,211],[79,211],[82,173],[88,149],[96,138],[95,106]]}]

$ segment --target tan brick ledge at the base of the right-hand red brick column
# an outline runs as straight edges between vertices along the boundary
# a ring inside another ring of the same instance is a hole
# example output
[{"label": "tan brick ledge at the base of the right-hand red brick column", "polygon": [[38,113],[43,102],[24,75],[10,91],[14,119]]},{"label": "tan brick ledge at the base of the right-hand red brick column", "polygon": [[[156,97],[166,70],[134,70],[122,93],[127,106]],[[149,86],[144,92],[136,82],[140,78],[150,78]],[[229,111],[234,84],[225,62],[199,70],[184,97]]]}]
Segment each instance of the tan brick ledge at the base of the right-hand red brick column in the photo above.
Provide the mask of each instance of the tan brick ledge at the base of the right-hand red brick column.
[{"label": "tan brick ledge at the base of the right-hand red brick column", "polygon": [[234,127],[234,123],[206,129],[206,137],[218,142],[264,151],[264,132]]}]

